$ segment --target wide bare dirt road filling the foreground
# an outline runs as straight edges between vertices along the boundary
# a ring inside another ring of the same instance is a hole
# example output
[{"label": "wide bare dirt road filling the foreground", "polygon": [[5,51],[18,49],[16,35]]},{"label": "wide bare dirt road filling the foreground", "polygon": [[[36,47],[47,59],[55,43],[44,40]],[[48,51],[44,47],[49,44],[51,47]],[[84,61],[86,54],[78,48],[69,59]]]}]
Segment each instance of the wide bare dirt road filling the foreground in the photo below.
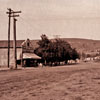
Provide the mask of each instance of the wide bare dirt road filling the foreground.
[{"label": "wide bare dirt road filling the foreground", "polygon": [[100,100],[100,63],[0,71],[0,100]]}]

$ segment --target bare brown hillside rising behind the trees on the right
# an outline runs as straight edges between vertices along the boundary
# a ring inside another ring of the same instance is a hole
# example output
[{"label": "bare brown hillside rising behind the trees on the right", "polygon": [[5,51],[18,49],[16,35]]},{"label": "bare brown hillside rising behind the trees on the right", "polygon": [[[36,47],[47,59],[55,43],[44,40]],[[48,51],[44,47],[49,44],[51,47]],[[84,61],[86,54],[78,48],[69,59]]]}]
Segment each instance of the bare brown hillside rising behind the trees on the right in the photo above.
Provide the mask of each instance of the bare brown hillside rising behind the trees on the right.
[{"label": "bare brown hillside rising behind the trees on the right", "polygon": [[73,48],[80,52],[93,52],[100,50],[100,40],[78,39],[78,38],[63,38],[69,42]]}]

